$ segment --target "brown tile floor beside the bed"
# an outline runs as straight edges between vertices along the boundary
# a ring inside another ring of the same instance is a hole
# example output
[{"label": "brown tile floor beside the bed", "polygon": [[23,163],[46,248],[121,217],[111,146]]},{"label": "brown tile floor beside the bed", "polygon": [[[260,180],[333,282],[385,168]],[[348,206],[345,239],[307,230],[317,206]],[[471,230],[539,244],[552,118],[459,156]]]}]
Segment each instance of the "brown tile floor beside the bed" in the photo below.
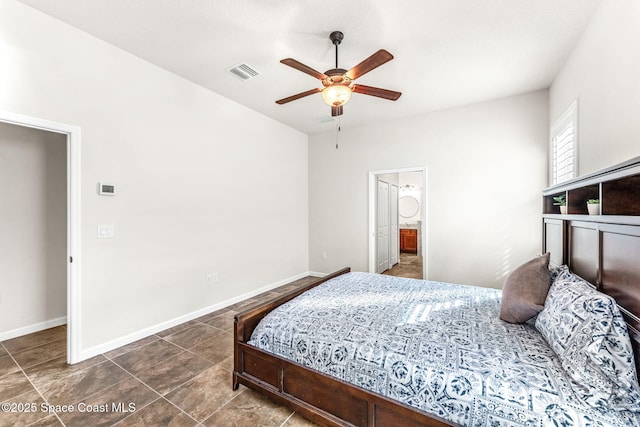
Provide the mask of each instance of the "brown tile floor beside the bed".
[{"label": "brown tile floor beside the bed", "polygon": [[313,426],[252,390],[231,388],[234,314],[311,280],[75,365],[66,363],[65,326],[3,341],[0,427]]}]

